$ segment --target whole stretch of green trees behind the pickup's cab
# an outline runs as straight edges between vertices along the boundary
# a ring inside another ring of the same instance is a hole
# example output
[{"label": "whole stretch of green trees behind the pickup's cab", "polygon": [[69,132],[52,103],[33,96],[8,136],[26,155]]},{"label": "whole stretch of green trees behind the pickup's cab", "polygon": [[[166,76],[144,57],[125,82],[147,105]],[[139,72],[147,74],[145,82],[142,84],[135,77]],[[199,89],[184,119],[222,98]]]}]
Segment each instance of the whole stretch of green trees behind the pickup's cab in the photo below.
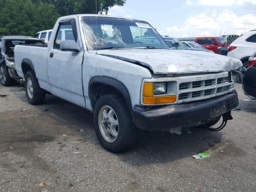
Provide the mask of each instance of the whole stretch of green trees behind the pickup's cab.
[{"label": "whole stretch of green trees behind the pickup's cab", "polygon": [[0,35],[28,35],[53,28],[60,16],[108,13],[126,0],[0,0]]}]

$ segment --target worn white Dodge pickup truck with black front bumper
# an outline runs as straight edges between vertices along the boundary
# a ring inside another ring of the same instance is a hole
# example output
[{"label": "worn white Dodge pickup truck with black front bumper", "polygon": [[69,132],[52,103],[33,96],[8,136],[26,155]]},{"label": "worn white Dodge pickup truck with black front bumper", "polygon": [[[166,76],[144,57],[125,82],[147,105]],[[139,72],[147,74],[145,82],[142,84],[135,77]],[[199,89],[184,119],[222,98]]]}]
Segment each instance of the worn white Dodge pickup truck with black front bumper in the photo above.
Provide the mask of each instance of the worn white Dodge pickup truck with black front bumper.
[{"label": "worn white Dodge pickup truck with black front bumper", "polygon": [[[28,102],[40,104],[51,93],[94,112],[96,135],[111,152],[132,146],[138,128],[218,131],[238,106],[232,70],[240,60],[172,50],[141,20],[61,17],[48,45],[18,45],[14,52]],[[222,125],[212,128],[221,117]]]}]

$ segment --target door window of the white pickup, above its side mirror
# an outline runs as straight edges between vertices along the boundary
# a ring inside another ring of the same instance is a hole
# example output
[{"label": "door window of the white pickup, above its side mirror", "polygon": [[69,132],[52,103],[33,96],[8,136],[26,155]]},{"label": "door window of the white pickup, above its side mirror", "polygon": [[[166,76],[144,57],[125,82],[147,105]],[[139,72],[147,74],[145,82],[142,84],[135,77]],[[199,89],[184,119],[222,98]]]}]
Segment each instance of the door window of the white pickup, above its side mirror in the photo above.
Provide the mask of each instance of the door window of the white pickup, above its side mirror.
[{"label": "door window of the white pickup, above its side mirror", "polygon": [[60,49],[60,42],[65,40],[75,40],[72,24],[70,22],[60,24],[54,42],[54,49]]}]

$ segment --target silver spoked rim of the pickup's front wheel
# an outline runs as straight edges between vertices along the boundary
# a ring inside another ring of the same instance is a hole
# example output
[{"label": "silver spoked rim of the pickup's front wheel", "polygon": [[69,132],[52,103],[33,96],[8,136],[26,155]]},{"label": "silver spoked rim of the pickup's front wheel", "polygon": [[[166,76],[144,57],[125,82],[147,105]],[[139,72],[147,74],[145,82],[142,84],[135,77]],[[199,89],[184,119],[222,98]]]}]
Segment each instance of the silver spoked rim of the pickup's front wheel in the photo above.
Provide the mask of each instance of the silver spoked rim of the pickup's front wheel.
[{"label": "silver spoked rim of the pickup's front wheel", "polygon": [[114,142],[118,136],[118,118],[114,110],[105,105],[100,109],[98,115],[100,133],[107,142]]}]

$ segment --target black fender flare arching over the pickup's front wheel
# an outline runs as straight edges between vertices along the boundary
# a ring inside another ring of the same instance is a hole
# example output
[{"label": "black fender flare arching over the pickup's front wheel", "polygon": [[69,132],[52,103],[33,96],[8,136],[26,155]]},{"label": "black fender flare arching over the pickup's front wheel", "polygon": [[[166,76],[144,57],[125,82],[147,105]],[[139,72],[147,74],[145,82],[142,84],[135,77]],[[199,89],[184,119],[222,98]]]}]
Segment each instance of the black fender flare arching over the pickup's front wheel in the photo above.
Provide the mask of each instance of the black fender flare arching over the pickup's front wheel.
[{"label": "black fender flare arching over the pickup's front wheel", "polygon": [[93,86],[93,84],[96,84],[96,83],[110,86],[110,87],[114,88],[116,91],[118,91],[123,96],[128,108],[132,114],[132,102],[131,102],[130,94],[129,94],[127,88],[124,86],[124,84],[122,84],[120,81],[118,81],[114,78],[111,78],[111,77],[94,76],[93,78],[91,78],[91,80],[89,82],[89,87],[88,87],[88,93],[89,93],[90,100],[91,100],[90,89]]}]

